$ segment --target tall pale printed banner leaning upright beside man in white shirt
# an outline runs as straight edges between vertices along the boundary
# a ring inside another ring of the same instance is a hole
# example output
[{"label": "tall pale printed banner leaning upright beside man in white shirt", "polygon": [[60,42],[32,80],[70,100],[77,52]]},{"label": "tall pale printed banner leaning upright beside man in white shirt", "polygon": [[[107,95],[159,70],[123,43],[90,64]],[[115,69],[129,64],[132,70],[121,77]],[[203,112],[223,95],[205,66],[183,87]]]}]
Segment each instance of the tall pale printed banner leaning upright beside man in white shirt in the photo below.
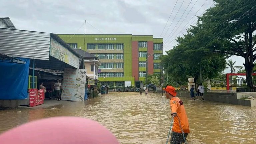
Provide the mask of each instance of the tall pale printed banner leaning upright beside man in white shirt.
[{"label": "tall pale printed banner leaning upright beside man in white shirt", "polygon": [[64,69],[61,100],[84,101],[85,69]]}]

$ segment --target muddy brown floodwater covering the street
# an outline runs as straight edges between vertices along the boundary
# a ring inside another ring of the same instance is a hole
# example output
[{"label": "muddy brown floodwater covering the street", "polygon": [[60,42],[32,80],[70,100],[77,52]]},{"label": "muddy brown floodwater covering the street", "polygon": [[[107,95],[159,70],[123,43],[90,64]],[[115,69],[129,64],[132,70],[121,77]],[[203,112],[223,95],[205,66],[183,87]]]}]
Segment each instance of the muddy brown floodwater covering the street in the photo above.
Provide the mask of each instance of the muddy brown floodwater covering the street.
[{"label": "muddy brown floodwater covering the street", "polygon": [[[181,99],[190,123],[189,144],[256,143],[255,107]],[[93,119],[107,127],[122,144],[164,144],[171,123],[169,101],[164,96],[116,92],[56,108],[0,111],[0,133],[53,116]]]}]

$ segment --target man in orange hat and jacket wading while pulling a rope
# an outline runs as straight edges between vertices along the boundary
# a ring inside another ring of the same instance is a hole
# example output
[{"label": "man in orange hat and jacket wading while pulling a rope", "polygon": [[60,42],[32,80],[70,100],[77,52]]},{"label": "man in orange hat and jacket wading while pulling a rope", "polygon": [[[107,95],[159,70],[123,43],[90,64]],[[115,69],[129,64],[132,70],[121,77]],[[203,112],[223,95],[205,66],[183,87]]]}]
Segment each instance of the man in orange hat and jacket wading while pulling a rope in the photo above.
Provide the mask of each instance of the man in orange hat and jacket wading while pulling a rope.
[{"label": "man in orange hat and jacket wading while pulling a rope", "polygon": [[[167,86],[164,88],[166,98],[170,99],[170,106],[172,110],[172,117],[174,119],[171,135],[171,144],[182,144],[188,136],[189,123],[188,117],[184,108],[182,100],[176,97],[175,88]],[[183,137],[184,133],[184,137]]]}]

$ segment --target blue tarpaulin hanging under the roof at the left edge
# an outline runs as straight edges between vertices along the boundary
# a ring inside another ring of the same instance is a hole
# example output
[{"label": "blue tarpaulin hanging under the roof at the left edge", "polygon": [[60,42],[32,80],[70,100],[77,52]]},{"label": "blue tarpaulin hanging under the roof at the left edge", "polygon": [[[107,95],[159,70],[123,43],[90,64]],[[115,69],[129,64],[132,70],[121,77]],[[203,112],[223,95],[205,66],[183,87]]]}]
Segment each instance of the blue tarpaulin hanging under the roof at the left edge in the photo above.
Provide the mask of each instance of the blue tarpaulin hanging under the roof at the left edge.
[{"label": "blue tarpaulin hanging under the roof at the left edge", "polygon": [[0,62],[0,99],[26,99],[30,59],[19,58],[26,64]]}]

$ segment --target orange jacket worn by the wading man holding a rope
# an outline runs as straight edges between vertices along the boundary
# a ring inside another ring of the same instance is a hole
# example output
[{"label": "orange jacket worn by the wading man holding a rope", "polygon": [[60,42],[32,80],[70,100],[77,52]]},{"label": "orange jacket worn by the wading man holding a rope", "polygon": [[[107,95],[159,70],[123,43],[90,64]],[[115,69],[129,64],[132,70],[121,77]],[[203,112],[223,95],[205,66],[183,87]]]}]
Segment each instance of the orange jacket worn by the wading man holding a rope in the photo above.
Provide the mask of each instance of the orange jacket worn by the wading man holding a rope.
[{"label": "orange jacket worn by the wading man holding a rope", "polygon": [[[183,129],[183,132],[189,133],[190,131],[189,131],[188,117],[187,117],[183,102],[178,97],[173,97],[170,100],[170,106],[172,109],[172,113],[177,113],[178,117],[180,118],[180,124]],[[172,131],[177,133],[182,133],[178,117],[177,116],[174,117]]]}]

